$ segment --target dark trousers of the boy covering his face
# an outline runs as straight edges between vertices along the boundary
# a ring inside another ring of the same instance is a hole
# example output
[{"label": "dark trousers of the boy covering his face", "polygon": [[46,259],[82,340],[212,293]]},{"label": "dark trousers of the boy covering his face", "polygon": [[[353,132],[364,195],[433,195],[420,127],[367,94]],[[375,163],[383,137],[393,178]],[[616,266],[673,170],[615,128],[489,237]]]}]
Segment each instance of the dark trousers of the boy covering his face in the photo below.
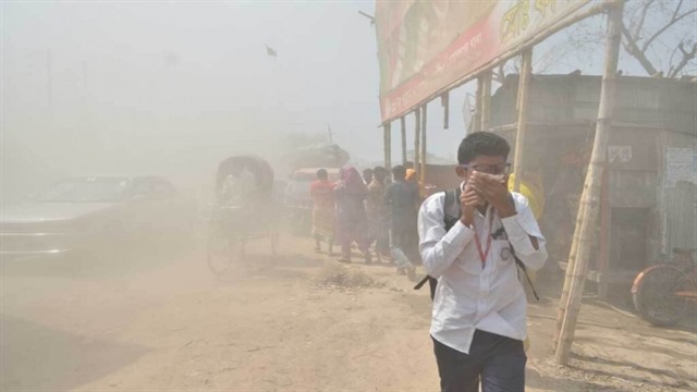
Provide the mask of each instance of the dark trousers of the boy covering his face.
[{"label": "dark trousers of the boy covering his face", "polygon": [[[432,339],[432,338],[431,338]],[[523,392],[525,363],[523,342],[476,330],[469,354],[433,339],[442,392]]]}]

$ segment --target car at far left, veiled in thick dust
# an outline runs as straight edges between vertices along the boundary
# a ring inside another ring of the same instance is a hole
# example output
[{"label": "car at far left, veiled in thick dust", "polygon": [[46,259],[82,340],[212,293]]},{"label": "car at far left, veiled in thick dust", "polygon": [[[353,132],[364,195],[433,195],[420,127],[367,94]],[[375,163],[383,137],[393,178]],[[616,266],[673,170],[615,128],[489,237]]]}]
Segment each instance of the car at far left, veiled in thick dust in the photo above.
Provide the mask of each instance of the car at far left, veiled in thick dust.
[{"label": "car at far left, veiled in thick dust", "polygon": [[61,180],[0,213],[0,257],[119,252],[191,234],[195,205],[159,176]]}]

